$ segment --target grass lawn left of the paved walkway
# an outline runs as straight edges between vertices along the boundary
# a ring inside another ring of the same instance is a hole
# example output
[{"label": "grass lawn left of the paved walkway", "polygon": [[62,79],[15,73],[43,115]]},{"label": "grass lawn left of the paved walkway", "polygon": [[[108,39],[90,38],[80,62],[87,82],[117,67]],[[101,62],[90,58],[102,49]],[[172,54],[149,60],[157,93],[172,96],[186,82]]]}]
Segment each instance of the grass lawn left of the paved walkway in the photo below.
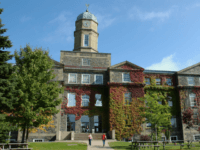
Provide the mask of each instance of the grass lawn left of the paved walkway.
[{"label": "grass lawn left of the paved walkway", "polygon": [[[70,144],[77,144],[71,145]],[[87,150],[86,143],[75,142],[48,142],[48,143],[29,143],[28,147],[33,150]]]}]

